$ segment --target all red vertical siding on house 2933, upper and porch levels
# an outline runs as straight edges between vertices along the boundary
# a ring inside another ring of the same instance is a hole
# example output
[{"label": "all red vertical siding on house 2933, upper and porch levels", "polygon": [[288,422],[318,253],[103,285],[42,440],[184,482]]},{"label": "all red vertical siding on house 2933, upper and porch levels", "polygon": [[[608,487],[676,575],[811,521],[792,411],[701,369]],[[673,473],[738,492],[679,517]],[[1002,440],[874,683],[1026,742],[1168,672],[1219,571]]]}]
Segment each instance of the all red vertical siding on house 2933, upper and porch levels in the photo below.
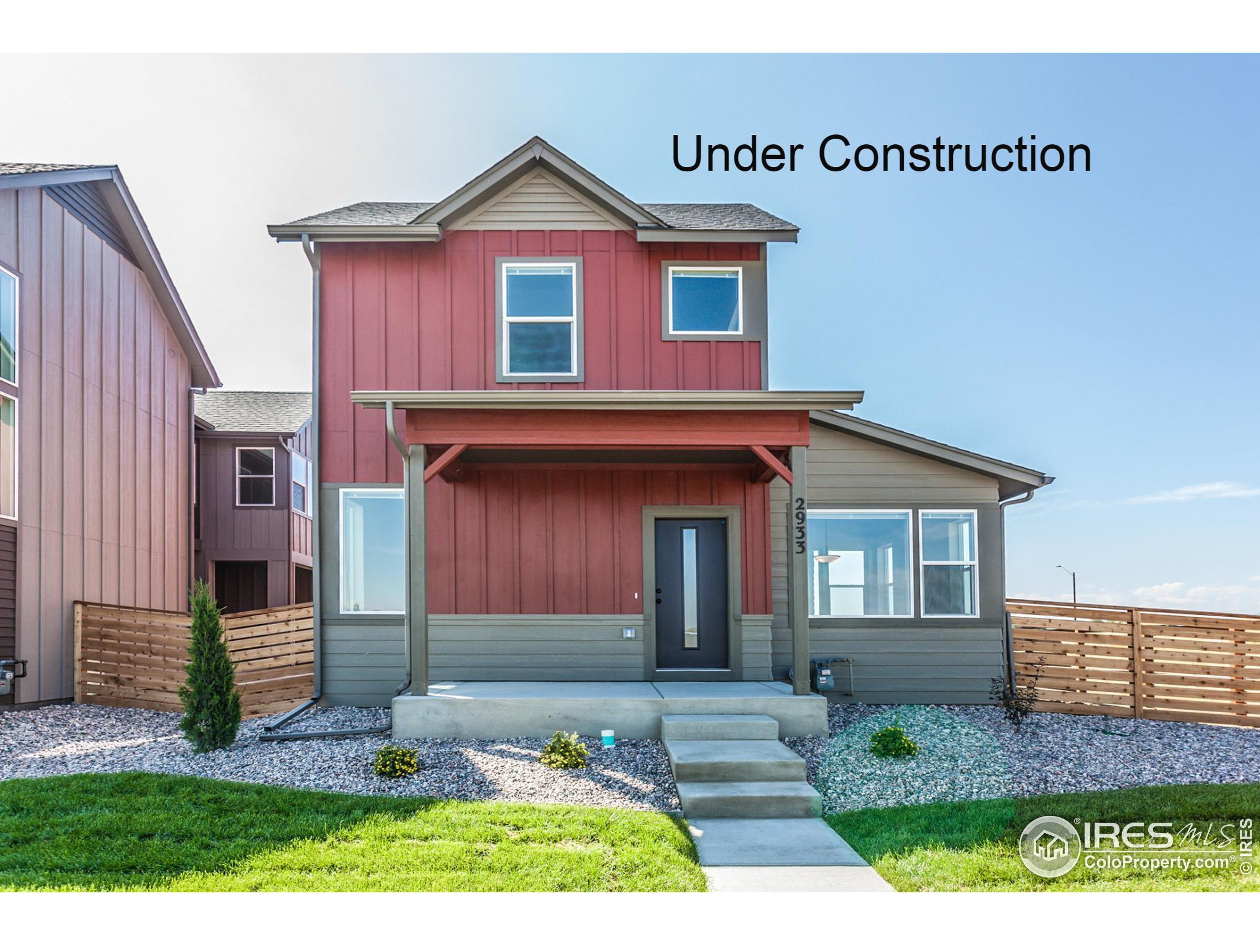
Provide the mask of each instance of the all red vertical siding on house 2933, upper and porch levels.
[{"label": "all red vertical siding on house 2933, upper and porch levels", "polygon": [[[663,261],[760,252],[590,231],[324,244],[320,481],[402,481],[382,412],[352,406],[350,391],[761,389],[761,341],[662,339],[660,286]],[[585,383],[495,383],[503,256],[582,257]],[[474,471],[427,494],[431,614],[641,614],[643,507],[680,504],[741,509],[743,612],[770,612],[769,494],[746,470]]]}]

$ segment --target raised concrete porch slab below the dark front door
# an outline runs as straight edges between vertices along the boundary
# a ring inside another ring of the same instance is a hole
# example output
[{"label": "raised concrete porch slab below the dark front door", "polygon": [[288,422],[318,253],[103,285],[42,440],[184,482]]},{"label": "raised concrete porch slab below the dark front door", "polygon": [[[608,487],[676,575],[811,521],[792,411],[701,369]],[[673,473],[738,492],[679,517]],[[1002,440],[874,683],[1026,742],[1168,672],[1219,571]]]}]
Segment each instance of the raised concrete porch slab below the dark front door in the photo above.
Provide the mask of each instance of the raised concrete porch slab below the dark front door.
[{"label": "raised concrete porch slab below the dark front door", "polygon": [[659,738],[665,714],[770,716],[779,736],[827,735],[827,699],[782,683],[459,683],[393,699],[396,738]]}]

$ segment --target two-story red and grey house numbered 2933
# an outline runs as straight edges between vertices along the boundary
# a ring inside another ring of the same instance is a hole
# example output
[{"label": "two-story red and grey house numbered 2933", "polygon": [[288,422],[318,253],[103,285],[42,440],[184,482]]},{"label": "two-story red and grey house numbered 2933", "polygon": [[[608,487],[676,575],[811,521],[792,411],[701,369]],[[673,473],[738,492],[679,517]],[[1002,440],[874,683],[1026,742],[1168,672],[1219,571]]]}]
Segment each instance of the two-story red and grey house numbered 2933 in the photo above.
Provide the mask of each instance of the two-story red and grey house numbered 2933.
[{"label": "two-story red and grey house numbered 2933", "polygon": [[835,412],[861,392],[769,389],[791,223],[636,203],[533,139],[437,203],[270,232],[315,278],[325,702],[789,668],[805,692],[810,655],[852,656],[858,697],[1002,674],[999,501],[1050,479]]}]

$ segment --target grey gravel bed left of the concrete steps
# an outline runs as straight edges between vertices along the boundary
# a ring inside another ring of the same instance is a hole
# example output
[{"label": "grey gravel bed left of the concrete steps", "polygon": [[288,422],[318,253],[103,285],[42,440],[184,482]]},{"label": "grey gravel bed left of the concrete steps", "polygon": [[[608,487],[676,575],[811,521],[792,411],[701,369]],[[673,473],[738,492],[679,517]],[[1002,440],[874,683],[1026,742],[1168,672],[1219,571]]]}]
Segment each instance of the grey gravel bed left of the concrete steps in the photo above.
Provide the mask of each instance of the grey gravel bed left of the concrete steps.
[{"label": "grey gravel bed left of the concrete steps", "polygon": [[[658,741],[619,741],[605,751],[598,738],[583,738],[588,766],[556,771],[538,762],[542,738],[397,740],[420,751],[422,767],[393,780],[372,772],[377,748],[391,741],[384,736],[261,742],[258,732],[268,721],[246,721],[231,747],[194,755],[171,712],[79,704],[0,712],[0,780],[151,771],[344,794],[678,809]],[[320,708],[292,727],[365,728],[387,721],[386,709]]]}]

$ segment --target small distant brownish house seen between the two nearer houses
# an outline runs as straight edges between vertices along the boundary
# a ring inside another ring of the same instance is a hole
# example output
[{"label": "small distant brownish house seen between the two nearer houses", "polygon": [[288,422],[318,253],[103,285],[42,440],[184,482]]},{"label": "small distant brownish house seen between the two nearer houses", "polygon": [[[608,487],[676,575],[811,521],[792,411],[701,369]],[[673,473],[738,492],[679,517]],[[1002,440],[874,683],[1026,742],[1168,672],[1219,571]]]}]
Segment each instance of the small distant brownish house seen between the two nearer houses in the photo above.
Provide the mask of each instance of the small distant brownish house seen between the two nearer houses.
[{"label": "small distant brownish house seen between the two nearer houses", "polygon": [[197,576],[232,614],[311,600],[306,391],[197,394]]}]

